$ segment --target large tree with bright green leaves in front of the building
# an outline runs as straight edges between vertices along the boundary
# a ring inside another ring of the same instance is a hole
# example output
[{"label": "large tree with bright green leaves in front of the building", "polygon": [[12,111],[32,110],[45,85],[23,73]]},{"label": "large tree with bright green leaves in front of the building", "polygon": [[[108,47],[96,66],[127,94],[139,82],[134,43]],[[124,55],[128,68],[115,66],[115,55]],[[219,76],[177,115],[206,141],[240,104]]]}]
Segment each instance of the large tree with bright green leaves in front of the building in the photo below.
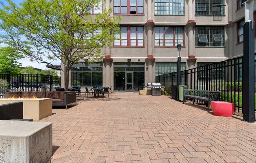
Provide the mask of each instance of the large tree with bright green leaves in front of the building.
[{"label": "large tree with bright green leaves in front of the building", "polygon": [[119,32],[120,18],[110,16],[112,9],[90,15],[100,0],[7,2],[0,7],[2,43],[38,63],[54,66],[52,61],[60,60],[65,90],[72,65],[79,60],[101,60],[102,47],[111,47],[113,31]]}]

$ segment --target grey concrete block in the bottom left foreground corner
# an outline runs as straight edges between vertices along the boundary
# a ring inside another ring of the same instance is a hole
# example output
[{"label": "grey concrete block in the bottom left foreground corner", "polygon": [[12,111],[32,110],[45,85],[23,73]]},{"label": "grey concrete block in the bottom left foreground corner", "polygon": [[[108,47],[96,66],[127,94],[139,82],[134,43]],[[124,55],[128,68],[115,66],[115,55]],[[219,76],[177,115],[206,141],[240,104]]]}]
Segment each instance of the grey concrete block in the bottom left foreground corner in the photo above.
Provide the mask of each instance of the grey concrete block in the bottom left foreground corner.
[{"label": "grey concrete block in the bottom left foreground corner", "polygon": [[52,156],[52,123],[0,121],[1,163],[46,163]]}]

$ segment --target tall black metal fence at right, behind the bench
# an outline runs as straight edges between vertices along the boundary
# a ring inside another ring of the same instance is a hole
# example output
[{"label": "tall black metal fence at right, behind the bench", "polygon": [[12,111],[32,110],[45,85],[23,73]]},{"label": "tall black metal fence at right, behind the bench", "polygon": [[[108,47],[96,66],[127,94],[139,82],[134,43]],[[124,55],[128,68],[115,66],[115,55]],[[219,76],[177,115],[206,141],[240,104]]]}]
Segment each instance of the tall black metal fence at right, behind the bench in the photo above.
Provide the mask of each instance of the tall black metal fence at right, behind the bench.
[{"label": "tall black metal fence at right, behind the bench", "polygon": [[[187,85],[188,89],[219,91],[220,101],[235,103],[235,111],[243,112],[242,69],[243,57],[203,65],[181,71],[181,85]],[[171,94],[172,85],[177,85],[177,72],[156,76],[156,82]]]}]

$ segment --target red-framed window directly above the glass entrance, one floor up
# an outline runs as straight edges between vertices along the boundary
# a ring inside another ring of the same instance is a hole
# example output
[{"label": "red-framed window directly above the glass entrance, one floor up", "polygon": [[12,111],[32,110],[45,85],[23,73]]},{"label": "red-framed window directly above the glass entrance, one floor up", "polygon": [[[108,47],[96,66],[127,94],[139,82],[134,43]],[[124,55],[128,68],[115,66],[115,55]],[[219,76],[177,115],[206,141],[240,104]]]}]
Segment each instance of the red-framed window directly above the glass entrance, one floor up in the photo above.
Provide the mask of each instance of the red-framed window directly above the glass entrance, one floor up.
[{"label": "red-framed window directly above the glass entrance, one floor up", "polygon": [[144,27],[121,27],[115,34],[115,46],[144,46]]}]

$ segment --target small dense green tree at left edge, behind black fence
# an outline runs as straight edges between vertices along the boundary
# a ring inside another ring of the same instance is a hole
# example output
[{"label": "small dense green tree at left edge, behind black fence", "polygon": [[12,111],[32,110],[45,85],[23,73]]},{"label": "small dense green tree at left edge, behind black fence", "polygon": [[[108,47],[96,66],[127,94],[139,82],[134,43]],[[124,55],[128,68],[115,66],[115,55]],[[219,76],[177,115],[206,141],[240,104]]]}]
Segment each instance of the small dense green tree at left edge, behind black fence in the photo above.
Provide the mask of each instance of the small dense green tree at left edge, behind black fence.
[{"label": "small dense green tree at left edge, behind black fence", "polygon": [[20,74],[20,55],[11,47],[0,48],[0,74]]}]

